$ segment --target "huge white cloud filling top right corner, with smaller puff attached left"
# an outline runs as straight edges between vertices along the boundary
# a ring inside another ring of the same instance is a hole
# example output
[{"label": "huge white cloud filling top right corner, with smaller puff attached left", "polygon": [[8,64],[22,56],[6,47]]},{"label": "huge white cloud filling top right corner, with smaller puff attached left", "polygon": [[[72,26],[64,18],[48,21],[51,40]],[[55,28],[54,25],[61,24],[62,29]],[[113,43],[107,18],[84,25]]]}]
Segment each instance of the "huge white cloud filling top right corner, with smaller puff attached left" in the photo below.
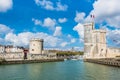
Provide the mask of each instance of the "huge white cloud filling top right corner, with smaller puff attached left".
[{"label": "huge white cloud filling top right corner, with smaller puff attached left", "polygon": [[[97,24],[106,23],[108,26],[120,28],[120,6],[119,0],[96,0],[93,3],[93,10],[86,16],[84,12],[76,12],[75,22],[92,22]],[[92,19],[90,15],[94,15]]]}]

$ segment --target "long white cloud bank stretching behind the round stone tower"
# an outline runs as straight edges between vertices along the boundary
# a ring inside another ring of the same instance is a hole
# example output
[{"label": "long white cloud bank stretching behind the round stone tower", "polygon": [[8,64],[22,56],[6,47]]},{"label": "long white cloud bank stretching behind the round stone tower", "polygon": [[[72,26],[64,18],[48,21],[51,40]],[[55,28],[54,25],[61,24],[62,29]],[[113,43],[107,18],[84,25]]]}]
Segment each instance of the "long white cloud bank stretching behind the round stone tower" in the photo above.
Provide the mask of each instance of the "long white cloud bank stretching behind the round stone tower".
[{"label": "long white cloud bank stretching behind the round stone tower", "polygon": [[1,40],[4,40],[5,43],[13,44],[14,46],[28,46],[29,41],[32,38],[44,39],[44,47],[49,48],[66,48],[66,46],[71,45],[71,43],[75,42],[74,38],[69,39],[66,37],[66,39],[64,39],[62,37],[56,37],[43,32],[22,32],[18,34],[11,32],[6,34],[4,39],[0,38],[0,42]]}]

